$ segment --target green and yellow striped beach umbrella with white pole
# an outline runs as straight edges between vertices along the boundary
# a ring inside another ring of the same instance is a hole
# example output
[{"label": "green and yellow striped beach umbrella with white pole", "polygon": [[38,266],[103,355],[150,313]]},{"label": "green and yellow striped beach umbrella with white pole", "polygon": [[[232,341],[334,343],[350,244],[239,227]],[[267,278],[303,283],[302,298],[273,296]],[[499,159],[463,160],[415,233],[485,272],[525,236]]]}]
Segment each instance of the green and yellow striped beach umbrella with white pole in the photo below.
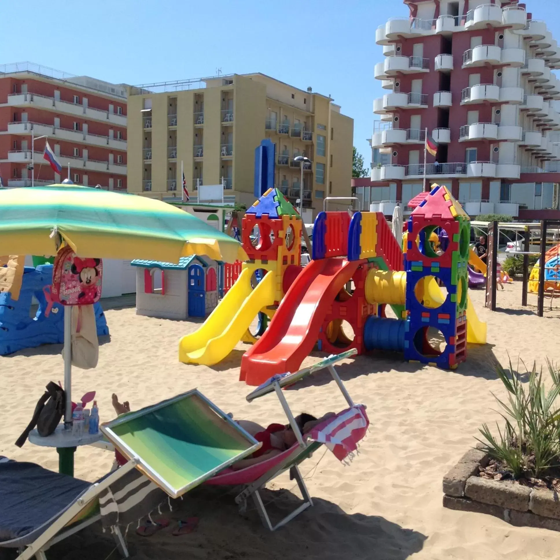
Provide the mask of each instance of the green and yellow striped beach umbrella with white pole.
[{"label": "green and yellow striped beach umbrella with white pole", "polygon": [[[178,263],[181,256],[246,260],[239,242],[171,204],[80,185],[0,190],[0,253]],[[72,306],[64,308],[64,389],[71,420]]]}]

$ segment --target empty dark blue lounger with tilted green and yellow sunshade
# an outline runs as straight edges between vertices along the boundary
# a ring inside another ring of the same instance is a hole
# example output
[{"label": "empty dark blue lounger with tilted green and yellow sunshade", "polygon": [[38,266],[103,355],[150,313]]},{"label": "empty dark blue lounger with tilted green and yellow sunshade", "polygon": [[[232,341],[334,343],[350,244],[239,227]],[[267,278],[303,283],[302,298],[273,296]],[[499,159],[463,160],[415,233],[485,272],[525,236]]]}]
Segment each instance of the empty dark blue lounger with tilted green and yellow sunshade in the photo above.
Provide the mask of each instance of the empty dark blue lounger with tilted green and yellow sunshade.
[{"label": "empty dark blue lounger with tilted green and yellow sunshade", "polygon": [[102,429],[129,460],[93,484],[33,463],[0,461],[0,547],[20,549],[17,560],[45,560],[50,546],[99,519],[128,557],[128,525],[260,446],[197,390]]}]

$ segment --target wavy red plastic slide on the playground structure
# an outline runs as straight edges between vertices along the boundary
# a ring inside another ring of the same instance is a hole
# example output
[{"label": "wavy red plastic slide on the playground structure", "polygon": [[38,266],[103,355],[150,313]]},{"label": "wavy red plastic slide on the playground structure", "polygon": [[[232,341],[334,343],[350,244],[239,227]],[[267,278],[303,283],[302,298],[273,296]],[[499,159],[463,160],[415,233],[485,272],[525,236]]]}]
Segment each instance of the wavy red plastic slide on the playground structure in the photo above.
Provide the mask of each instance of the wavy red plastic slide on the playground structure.
[{"label": "wavy red plastic slide on the playground structure", "polygon": [[312,260],[290,286],[266,332],[242,357],[239,379],[260,385],[274,374],[297,371],[319,338],[329,306],[358,264],[337,257]]}]

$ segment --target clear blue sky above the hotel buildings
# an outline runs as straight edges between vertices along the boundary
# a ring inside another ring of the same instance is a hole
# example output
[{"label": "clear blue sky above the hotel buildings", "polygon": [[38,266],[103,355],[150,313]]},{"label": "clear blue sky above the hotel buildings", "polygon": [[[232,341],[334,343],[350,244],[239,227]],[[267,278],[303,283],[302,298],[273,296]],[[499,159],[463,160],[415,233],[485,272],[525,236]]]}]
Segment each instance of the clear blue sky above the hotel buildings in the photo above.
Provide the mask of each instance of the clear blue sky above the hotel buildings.
[{"label": "clear blue sky above the hotel buildings", "polygon": [[[560,2],[526,0],[560,41]],[[115,83],[263,72],[331,95],[354,119],[354,145],[369,161],[382,60],[375,29],[407,16],[402,0],[97,0],[2,3],[0,63],[30,60]],[[24,13],[32,15],[23,17]],[[9,23],[11,22],[11,23]],[[24,27],[22,27],[24,26]],[[310,66],[305,61],[315,60]]]}]

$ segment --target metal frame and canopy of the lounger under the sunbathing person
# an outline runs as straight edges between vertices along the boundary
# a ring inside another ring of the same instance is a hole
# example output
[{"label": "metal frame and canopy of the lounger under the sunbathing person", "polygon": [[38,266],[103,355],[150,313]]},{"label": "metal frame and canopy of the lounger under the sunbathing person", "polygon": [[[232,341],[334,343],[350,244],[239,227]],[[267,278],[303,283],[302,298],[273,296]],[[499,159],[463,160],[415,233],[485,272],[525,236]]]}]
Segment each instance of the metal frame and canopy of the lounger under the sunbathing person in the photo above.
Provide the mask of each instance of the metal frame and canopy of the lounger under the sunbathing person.
[{"label": "metal frame and canopy of the lounger under the sunbathing person", "polygon": [[[239,505],[240,513],[244,514],[247,507],[247,500],[249,497],[253,498],[253,501],[256,506],[256,510],[259,514],[260,519],[263,522],[265,528],[268,528],[270,531],[276,531],[276,529],[281,528],[282,526],[286,525],[288,521],[291,521],[294,517],[301,514],[302,511],[305,511],[308,507],[313,505],[313,501],[307,490],[307,486],[305,484],[304,478],[301,476],[300,469],[298,468],[298,464],[300,464],[305,459],[311,457],[314,451],[316,451],[321,445],[315,441],[308,441],[307,438],[304,439],[300,428],[297,426],[296,420],[293,416],[293,413],[290,409],[290,405],[286,400],[286,396],[282,391],[283,387],[287,387],[288,385],[292,385],[296,381],[300,381],[304,379],[307,375],[314,373],[315,371],[319,371],[322,369],[328,369],[330,375],[332,375],[335,383],[338,385],[340,392],[346,399],[349,407],[354,406],[354,402],[351,396],[348,394],[346,387],[344,386],[342,380],[340,379],[337,370],[334,368],[334,364],[344,360],[345,358],[355,356],[357,354],[357,350],[352,348],[347,352],[343,352],[342,354],[332,355],[320,362],[316,363],[313,366],[306,367],[302,370],[296,371],[293,374],[283,375],[283,376],[274,376],[271,377],[268,382],[265,382],[263,385],[256,388],[252,391],[249,395],[247,395],[246,399],[248,402],[253,401],[261,396],[267,395],[269,393],[276,393],[280,404],[288,418],[288,422],[290,422],[290,426],[292,427],[293,433],[296,436],[297,442],[299,446],[287,456],[281,463],[276,465],[273,469],[270,469],[269,472],[265,473],[259,479],[255,480],[255,482],[248,484],[244,490],[238,494],[235,498],[235,502]],[[295,510],[293,510],[290,514],[286,517],[281,519],[276,525],[273,525],[270,521],[270,517],[268,515],[267,509],[264,505],[263,499],[260,496],[259,491],[265,487],[265,485],[270,482],[273,478],[276,478],[279,474],[282,474],[286,470],[290,469],[290,480],[296,480],[297,486],[300,489],[301,495],[303,497],[303,503],[298,506]]]}]

